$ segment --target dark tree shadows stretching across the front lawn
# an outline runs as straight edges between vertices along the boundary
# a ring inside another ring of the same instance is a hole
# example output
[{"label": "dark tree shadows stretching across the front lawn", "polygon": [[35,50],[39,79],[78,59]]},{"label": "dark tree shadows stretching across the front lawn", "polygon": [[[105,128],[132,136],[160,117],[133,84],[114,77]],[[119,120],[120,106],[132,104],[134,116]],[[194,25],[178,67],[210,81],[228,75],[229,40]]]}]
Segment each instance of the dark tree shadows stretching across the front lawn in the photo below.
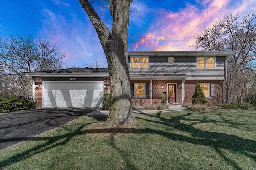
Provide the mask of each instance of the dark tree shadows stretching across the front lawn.
[{"label": "dark tree shadows stretching across the front lawn", "polygon": [[[138,113],[140,114],[140,113]],[[120,128],[120,127],[113,127],[113,128],[107,128],[107,129],[86,129],[82,130],[83,127],[88,126],[92,123],[84,124],[80,127],[78,127],[75,131],[72,131],[70,133],[66,133],[64,135],[56,135],[54,137],[34,137],[30,140],[32,141],[47,141],[46,143],[42,145],[38,145],[32,149],[28,149],[22,153],[16,154],[7,160],[3,160],[0,162],[0,169],[4,166],[8,166],[9,164],[12,164],[14,162],[18,162],[22,159],[29,158],[32,155],[38,154],[40,152],[44,152],[45,150],[66,145],[68,141],[72,139],[74,136],[78,135],[84,135],[85,133],[110,133],[111,139],[108,143],[110,146],[112,146],[115,150],[117,150],[120,155],[123,157],[124,161],[126,162],[127,168],[134,168],[136,169],[135,165],[132,164],[132,162],[129,160],[128,153],[124,150],[118,148],[114,144],[114,133],[139,133],[139,134],[158,134],[163,137],[166,137],[167,139],[176,140],[176,141],[182,141],[182,142],[188,142],[196,145],[204,145],[204,146],[210,146],[213,147],[216,152],[224,159],[227,163],[232,164],[234,168],[236,169],[242,169],[239,165],[236,164],[235,161],[231,160],[225,154],[221,151],[221,149],[228,149],[230,151],[237,152],[239,154],[244,154],[245,156],[256,160],[256,156],[250,153],[256,153],[256,147],[255,147],[255,141],[250,139],[244,139],[241,137],[238,137],[236,135],[229,135],[226,133],[217,133],[217,132],[209,132],[209,131],[203,131],[200,129],[196,129],[192,127],[195,123],[211,123],[211,122],[221,122],[223,123],[223,120],[216,121],[212,119],[208,119],[204,117],[203,119],[190,119],[191,115],[193,113],[188,113],[186,115],[180,115],[180,116],[174,116],[170,119],[161,117],[161,112],[158,112],[155,114],[147,114],[147,113],[141,113],[143,115],[146,115],[150,117],[149,119],[142,118],[142,117],[135,117],[136,119],[140,119],[142,121],[152,122],[152,123],[159,123],[164,126],[173,127],[175,129],[178,129],[180,131],[184,131],[192,135],[192,137],[178,135],[166,131],[161,131],[157,129],[152,128]],[[197,113],[198,114],[198,113]],[[200,114],[200,113],[199,113]],[[153,118],[153,119],[152,119]],[[106,116],[98,116],[94,117],[94,119],[98,121],[105,121]],[[184,121],[195,121],[194,123],[187,125],[182,122]],[[113,133],[114,132],[114,133]],[[63,140],[64,139],[64,140]],[[250,152],[250,153],[249,153]]]}]

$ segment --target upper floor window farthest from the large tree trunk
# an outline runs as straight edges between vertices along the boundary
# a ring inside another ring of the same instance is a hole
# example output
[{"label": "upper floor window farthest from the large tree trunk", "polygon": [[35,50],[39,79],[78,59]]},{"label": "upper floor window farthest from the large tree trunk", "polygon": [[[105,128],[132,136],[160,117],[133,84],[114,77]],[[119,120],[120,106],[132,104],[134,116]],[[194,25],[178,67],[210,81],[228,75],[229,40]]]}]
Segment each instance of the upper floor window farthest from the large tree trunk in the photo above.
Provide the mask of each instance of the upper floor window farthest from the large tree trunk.
[{"label": "upper floor window farthest from the large tree trunk", "polygon": [[196,68],[215,68],[215,57],[196,57]]}]

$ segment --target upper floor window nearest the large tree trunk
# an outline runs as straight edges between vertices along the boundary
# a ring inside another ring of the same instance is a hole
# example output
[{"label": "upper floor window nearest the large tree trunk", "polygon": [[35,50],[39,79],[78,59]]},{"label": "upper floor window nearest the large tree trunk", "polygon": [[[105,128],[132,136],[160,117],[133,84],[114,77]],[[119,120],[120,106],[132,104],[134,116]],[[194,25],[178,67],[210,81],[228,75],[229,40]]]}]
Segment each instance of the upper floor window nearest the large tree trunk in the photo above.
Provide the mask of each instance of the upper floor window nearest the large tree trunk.
[{"label": "upper floor window nearest the large tree trunk", "polygon": [[149,57],[130,57],[130,68],[149,68]]}]

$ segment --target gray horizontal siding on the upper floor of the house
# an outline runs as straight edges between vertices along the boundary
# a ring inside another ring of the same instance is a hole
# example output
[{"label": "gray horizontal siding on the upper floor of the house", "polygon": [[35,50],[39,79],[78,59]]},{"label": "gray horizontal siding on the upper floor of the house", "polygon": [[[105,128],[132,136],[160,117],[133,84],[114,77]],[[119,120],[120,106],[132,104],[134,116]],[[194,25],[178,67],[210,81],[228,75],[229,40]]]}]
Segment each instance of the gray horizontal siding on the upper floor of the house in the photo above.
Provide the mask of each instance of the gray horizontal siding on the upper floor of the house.
[{"label": "gray horizontal siding on the upper floor of the house", "polygon": [[196,56],[174,56],[174,63],[168,63],[168,56],[150,56],[149,69],[130,69],[130,74],[186,74],[192,79],[224,79],[226,57],[216,57],[216,69],[196,69]]}]

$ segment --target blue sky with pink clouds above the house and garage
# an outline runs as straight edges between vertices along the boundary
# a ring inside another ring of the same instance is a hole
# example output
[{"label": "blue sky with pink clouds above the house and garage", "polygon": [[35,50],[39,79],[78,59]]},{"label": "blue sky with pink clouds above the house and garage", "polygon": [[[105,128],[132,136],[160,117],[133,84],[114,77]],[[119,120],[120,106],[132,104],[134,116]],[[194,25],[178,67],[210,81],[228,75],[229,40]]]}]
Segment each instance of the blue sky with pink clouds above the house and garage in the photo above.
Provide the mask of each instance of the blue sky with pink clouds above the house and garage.
[{"label": "blue sky with pink clouds above the house and garage", "polygon": [[[51,41],[70,66],[94,63],[107,68],[98,35],[78,0],[0,0],[0,37],[32,35]],[[224,14],[255,10],[256,0],[134,0],[129,51],[189,51],[194,36]],[[206,2],[203,0],[203,2]],[[103,21],[111,28],[108,16]]]}]

